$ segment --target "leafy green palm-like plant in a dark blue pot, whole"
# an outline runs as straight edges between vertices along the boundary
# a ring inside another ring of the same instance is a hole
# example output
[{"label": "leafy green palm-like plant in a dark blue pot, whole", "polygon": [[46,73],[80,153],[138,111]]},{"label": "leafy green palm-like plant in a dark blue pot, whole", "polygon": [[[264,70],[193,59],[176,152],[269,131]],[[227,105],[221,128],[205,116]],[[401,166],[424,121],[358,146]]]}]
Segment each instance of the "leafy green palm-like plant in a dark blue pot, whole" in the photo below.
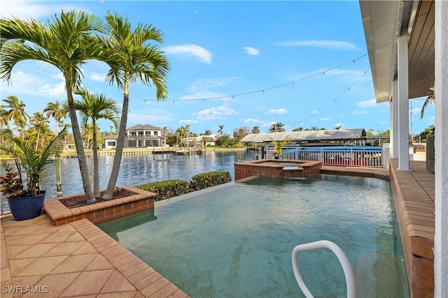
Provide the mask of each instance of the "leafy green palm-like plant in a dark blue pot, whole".
[{"label": "leafy green palm-like plant in a dark blue pot, whole", "polygon": [[[40,189],[41,174],[52,163],[50,156],[59,152],[59,142],[65,128],[51,140],[45,148],[39,150],[28,140],[10,137],[13,147],[1,147],[12,154],[15,164],[2,161],[1,167],[6,174],[0,177],[0,191],[8,199],[8,205],[16,221],[35,218],[42,212],[45,191]],[[25,170],[27,185],[24,187]]]}]

